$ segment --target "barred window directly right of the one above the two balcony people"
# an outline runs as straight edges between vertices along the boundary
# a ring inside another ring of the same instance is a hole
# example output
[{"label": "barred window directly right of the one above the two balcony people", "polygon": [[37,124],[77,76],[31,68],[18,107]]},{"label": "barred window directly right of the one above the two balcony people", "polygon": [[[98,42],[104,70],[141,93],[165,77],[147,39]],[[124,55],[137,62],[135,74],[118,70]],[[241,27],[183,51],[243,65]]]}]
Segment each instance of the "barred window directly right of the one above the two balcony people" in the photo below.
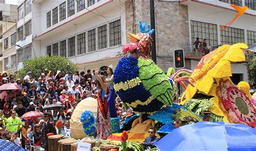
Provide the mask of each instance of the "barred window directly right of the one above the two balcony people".
[{"label": "barred window directly right of the one above the two balcony people", "polygon": [[244,43],[244,30],[231,27],[220,28],[220,43],[230,45]]}]

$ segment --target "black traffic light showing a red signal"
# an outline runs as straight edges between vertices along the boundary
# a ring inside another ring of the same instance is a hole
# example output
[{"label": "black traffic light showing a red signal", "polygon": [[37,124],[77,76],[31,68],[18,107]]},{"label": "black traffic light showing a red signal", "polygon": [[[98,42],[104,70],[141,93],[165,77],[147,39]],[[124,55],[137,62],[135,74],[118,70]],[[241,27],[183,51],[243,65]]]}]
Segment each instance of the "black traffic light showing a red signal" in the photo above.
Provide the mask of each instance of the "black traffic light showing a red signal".
[{"label": "black traffic light showing a red signal", "polygon": [[176,49],[173,51],[173,63],[175,68],[184,68],[185,67],[185,59],[184,59],[184,50]]}]

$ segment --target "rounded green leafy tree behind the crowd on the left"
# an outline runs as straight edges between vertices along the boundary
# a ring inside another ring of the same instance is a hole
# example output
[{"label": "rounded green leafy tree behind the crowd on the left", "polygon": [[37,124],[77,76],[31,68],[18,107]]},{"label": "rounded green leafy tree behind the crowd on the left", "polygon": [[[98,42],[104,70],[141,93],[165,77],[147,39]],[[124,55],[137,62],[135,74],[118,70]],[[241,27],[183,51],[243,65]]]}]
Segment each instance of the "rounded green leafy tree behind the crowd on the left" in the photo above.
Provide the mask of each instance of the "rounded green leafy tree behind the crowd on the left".
[{"label": "rounded green leafy tree behind the crowd on the left", "polygon": [[23,63],[23,68],[18,71],[16,78],[23,79],[28,72],[32,72],[34,78],[38,78],[41,73],[45,73],[46,75],[49,73],[49,71],[54,71],[56,74],[57,70],[62,71],[62,73],[65,75],[69,71],[72,73],[77,71],[77,66],[66,57],[37,57],[25,61]]}]

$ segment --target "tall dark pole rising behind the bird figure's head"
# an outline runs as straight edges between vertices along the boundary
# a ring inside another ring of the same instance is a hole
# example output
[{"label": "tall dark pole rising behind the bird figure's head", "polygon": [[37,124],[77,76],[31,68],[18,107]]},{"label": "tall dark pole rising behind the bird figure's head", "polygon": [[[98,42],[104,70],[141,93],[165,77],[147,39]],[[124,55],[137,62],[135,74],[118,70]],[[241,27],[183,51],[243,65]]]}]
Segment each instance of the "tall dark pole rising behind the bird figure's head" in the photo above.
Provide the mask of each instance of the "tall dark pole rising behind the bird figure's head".
[{"label": "tall dark pole rising behind the bird figure's head", "polygon": [[153,38],[153,43],[152,43],[152,60],[154,63],[157,64],[157,53],[156,53],[156,26],[154,24],[154,0],[150,0],[150,25],[151,29],[154,29],[155,31],[152,33],[151,37]]}]

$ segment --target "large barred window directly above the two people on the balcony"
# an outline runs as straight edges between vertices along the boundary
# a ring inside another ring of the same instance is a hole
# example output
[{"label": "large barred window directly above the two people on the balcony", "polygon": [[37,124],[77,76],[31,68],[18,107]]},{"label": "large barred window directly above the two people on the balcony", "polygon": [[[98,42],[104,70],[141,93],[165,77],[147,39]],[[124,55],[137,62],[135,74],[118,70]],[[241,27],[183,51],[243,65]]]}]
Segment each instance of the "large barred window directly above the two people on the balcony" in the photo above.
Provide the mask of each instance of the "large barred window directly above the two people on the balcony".
[{"label": "large barred window directly above the two people on the balcony", "polygon": [[218,45],[217,25],[191,20],[191,42],[194,42],[197,37],[200,41],[206,39],[209,46]]}]

